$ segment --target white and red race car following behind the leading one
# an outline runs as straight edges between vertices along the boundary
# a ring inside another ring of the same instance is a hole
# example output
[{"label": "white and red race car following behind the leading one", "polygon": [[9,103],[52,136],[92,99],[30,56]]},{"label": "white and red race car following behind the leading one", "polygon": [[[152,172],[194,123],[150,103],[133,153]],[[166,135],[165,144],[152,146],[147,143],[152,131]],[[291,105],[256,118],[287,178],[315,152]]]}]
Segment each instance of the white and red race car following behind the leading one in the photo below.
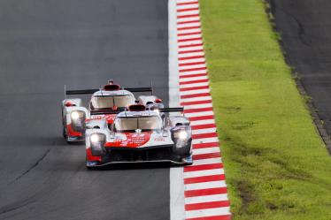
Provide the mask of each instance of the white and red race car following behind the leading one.
[{"label": "white and red race car following behind the leading one", "polygon": [[[155,95],[141,95],[135,100],[135,92],[151,92],[152,87],[121,88],[113,83],[100,89],[65,90],[66,95],[92,94],[89,107],[82,106],[81,98],[65,98],[62,102],[63,136],[67,142],[84,141],[87,124],[93,120],[105,119],[107,125],[112,125],[116,115],[127,110],[129,105],[139,102],[158,111],[163,107],[161,99]],[[162,117],[162,115],[161,115]]]}]

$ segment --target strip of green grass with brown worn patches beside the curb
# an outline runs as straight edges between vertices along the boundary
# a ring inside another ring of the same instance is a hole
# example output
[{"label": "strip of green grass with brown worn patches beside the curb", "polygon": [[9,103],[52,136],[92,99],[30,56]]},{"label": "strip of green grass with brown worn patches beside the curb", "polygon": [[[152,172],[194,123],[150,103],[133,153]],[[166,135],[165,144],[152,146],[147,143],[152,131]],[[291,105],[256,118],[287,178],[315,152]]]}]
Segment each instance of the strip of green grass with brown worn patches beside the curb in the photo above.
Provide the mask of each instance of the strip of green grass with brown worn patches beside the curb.
[{"label": "strip of green grass with brown worn patches beside the curb", "polygon": [[262,0],[200,0],[235,220],[331,219],[331,157]]}]

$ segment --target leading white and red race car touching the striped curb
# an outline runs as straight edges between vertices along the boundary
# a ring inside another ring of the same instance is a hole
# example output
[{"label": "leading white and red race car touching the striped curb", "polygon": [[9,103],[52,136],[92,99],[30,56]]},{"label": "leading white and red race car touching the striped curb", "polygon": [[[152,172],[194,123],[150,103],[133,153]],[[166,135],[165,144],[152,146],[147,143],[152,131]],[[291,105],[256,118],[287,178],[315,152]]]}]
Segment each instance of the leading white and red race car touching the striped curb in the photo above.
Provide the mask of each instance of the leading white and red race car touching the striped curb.
[{"label": "leading white and red race car touching the striped curb", "polygon": [[[159,109],[160,112],[183,108]],[[92,125],[93,124],[93,125]],[[120,112],[111,126],[105,119],[94,120],[86,132],[86,166],[111,163],[192,163],[192,137],[189,119],[170,116],[135,104]]]}]

